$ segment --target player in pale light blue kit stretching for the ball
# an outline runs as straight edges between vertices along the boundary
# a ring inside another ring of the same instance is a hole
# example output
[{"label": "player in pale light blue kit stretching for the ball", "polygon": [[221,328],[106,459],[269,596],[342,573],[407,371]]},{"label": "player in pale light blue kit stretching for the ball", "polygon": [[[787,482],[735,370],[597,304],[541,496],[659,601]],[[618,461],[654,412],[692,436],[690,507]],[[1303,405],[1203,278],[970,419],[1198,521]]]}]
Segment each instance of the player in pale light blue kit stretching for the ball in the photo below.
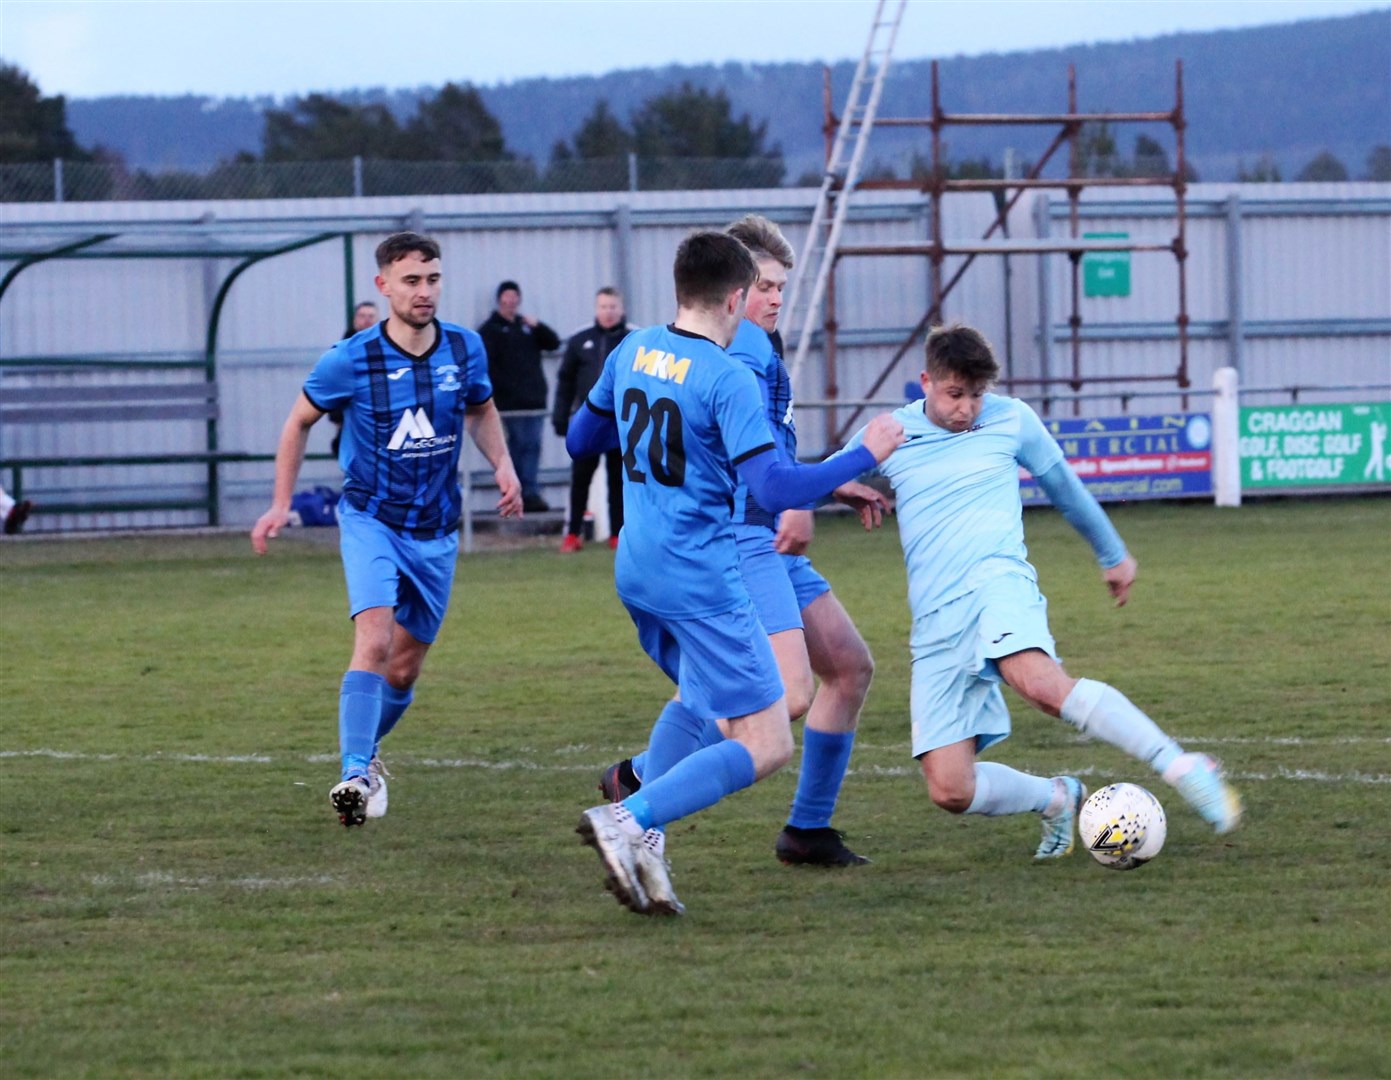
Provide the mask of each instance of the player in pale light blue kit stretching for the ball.
[{"label": "player in pale light blue kit stretching for the ball", "polygon": [[1241,800],[1216,761],[1185,753],[1120,690],[1074,679],[1059,662],[1024,547],[1020,466],[1092,546],[1117,605],[1136,564],[1034,411],[988,392],[999,372],[976,330],[933,330],[926,397],[894,413],[907,441],[879,466],[897,494],[912,610],[912,754],[932,802],[954,814],[1042,814],[1034,857],[1072,850],[1086,797],[1075,777],[976,760],[1010,733],[1003,681],[1035,708],[1145,761],[1219,834],[1231,831]]}]

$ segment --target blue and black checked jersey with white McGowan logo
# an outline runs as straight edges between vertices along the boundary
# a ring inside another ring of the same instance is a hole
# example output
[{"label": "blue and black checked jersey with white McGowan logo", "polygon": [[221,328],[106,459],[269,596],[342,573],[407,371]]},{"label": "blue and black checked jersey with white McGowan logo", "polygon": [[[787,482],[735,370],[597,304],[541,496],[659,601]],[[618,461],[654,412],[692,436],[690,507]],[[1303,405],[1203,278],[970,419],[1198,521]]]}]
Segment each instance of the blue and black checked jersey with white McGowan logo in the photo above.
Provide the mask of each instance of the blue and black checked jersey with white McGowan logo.
[{"label": "blue and black checked jersey with white McGowan logo", "polygon": [[435,321],[424,356],[403,352],[385,323],[339,341],[305,380],[317,409],[342,409],[344,498],[427,540],[459,527],[463,411],[492,397],[483,338]]}]

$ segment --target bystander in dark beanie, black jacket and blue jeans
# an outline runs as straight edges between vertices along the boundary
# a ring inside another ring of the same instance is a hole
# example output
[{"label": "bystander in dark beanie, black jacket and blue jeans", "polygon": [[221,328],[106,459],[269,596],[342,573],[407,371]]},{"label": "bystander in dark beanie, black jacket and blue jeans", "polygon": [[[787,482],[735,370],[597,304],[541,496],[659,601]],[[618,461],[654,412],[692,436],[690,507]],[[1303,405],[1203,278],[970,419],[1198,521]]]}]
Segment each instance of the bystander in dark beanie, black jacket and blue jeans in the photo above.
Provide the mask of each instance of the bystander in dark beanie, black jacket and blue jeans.
[{"label": "bystander in dark beanie, black jacket and blue jeans", "polygon": [[[479,327],[479,334],[488,351],[488,377],[508,431],[508,450],[522,480],[522,505],[531,514],[540,514],[551,509],[551,504],[541,498],[537,482],[547,399],[541,354],[561,348],[561,338],[540,319],[517,312],[522,287],[516,281],[499,284],[497,301],[497,309]],[[515,415],[529,412],[536,415]]]}]

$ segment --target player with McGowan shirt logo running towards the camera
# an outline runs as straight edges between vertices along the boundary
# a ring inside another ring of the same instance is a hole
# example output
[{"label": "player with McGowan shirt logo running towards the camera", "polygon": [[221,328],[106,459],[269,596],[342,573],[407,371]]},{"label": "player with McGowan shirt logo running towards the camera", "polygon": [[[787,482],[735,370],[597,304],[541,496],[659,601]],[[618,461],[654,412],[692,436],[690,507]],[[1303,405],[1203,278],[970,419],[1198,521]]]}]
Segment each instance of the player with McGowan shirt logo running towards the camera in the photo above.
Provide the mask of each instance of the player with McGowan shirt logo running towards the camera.
[{"label": "player with McGowan shirt logo running towards the camera", "polygon": [[440,245],[398,232],[377,246],[377,269],[391,315],[334,345],[309,373],[281,430],[270,509],[252,529],[264,555],[289,521],[309,430],[341,409],[338,529],[353,651],[338,697],[342,778],[330,802],[344,825],[387,813],[377,747],[410,704],[449,604],[465,434],[492,465],[498,511],[522,512],[483,341],[435,319]]}]

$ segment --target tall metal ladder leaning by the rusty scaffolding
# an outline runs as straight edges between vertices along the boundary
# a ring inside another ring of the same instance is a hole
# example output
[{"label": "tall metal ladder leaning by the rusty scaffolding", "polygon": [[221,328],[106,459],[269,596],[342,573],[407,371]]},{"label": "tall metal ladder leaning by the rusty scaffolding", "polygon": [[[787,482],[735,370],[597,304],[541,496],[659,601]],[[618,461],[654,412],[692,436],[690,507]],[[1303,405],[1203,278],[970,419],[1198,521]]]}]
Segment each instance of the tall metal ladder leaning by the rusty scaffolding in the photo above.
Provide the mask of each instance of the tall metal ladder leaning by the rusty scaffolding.
[{"label": "tall metal ladder leaning by the rusty scaffolding", "polygon": [[[821,302],[826,295],[830,267],[836,262],[836,245],[840,242],[846,210],[850,206],[850,192],[860,177],[865,146],[869,143],[869,131],[874,127],[875,114],[879,111],[883,81],[889,74],[889,57],[893,54],[893,42],[899,36],[899,24],[903,21],[903,8],[907,7],[907,3],[908,0],[879,0],[875,7],[874,24],[869,26],[869,42],[865,45],[864,56],[860,57],[854,81],[850,84],[850,97],[840,114],[840,127],[836,131],[830,160],[826,163],[826,173],[821,181],[817,209],[812,212],[811,227],[807,230],[807,242],[803,245],[801,257],[797,260],[791,283],[787,287],[787,298],[783,301],[783,326],[791,328],[796,326],[796,320],[801,319],[801,324],[797,327],[796,354],[789,369],[789,377],[794,387],[797,373],[801,370],[811,347],[811,335]],[[889,18],[885,18],[886,7],[893,8]],[[854,146],[850,156],[846,157],[851,128],[855,127],[858,129],[854,134]],[[800,305],[807,292],[807,277],[814,266],[817,276],[803,309]]]}]

